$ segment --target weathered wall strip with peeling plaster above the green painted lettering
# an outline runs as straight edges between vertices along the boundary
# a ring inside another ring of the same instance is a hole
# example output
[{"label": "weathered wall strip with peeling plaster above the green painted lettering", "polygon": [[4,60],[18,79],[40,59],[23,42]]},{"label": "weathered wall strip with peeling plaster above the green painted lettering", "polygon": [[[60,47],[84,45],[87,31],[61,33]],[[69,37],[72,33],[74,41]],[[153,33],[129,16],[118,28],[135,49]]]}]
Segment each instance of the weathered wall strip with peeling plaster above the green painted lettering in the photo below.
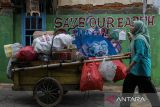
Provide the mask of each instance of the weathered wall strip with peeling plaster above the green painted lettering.
[{"label": "weathered wall strip with peeling plaster above the green painted lettering", "polygon": [[[140,1],[140,2],[138,2]],[[152,4],[153,0],[148,0]],[[58,14],[142,14],[142,0],[59,0]],[[147,14],[157,14],[159,9],[147,6]]]}]

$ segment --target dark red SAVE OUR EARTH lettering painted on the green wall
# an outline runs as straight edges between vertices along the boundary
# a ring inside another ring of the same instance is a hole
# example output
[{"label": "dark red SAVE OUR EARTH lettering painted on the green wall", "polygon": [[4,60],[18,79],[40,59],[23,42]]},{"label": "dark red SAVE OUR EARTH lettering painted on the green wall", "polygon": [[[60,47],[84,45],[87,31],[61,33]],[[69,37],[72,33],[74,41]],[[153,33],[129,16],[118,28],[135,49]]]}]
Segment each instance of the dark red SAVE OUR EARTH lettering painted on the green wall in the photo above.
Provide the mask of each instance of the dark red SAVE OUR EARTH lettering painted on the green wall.
[{"label": "dark red SAVE OUR EARTH lettering painted on the green wall", "polygon": [[[148,26],[154,26],[154,15],[146,16],[146,24]],[[80,28],[88,27],[96,27],[99,28],[107,27],[107,28],[123,28],[123,27],[129,27],[132,25],[132,22],[134,20],[142,20],[143,16],[128,16],[128,17],[117,17],[114,18],[112,16],[106,16],[106,17],[97,17],[97,16],[58,16],[54,19],[54,25],[56,29],[60,28],[74,28],[75,26],[78,26]]]}]

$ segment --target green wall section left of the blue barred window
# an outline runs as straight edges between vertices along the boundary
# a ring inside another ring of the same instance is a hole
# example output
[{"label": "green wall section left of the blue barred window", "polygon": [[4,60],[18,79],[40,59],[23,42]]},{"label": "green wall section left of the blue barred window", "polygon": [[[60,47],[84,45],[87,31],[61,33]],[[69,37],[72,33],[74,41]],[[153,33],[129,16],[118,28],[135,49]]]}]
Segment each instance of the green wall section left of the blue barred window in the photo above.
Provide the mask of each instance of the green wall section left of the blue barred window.
[{"label": "green wall section left of the blue barred window", "polygon": [[4,53],[4,45],[21,42],[21,15],[13,14],[13,10],[0,11],[0,82],[10,82],[7,79],[6,68],[8,58]]}]

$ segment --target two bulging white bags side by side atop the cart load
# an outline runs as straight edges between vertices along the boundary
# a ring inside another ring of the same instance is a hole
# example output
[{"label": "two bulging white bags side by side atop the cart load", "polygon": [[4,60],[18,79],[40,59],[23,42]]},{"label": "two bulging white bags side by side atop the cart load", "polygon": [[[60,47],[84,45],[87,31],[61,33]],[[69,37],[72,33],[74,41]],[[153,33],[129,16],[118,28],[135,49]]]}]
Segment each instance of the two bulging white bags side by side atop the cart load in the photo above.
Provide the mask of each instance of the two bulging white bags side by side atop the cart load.
[{"label": "two bulging white bags side by side atop the cart load", "polygon": [[72,45],[72,36],[69,34],[43,35],[33,40],[32,46],[37,53],[49,54],[52,50],[62,50]]}]

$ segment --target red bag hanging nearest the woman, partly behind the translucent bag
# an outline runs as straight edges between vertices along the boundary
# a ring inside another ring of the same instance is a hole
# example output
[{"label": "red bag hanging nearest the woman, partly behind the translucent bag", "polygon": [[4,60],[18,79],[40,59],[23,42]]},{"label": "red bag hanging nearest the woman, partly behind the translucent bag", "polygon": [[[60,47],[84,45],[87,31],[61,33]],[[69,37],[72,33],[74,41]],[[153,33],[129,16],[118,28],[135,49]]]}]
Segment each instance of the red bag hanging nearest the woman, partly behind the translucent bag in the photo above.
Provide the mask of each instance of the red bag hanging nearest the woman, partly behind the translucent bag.
[{"label": "red bag hanging nearest the woman, partly behind the translucent bag", "polygon": [[120,60],[113,60],[112,61],[116,66],[116,74],[113,79],[114,82],[125,79],[127,73],[126,73],[126,65],[123,64]]}]

